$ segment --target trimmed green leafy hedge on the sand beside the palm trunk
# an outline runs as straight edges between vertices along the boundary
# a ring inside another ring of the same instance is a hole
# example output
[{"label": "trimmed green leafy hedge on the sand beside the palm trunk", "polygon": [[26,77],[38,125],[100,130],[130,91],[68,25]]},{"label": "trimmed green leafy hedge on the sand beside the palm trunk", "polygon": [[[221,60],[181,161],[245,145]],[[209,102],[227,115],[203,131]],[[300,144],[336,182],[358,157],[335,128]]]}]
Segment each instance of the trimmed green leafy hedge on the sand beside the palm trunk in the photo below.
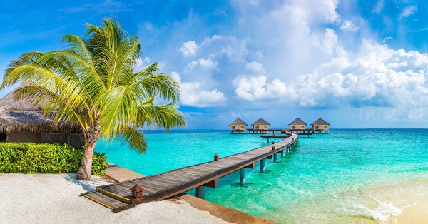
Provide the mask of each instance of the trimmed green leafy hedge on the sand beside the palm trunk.
[{"label": "trimmed green leafy hedge on the sand beside the palm trunk", "polygon": [[[77,173],[83,149],[48,143],[0,143],[0,173]],[[92,174],[104,175],[105,153],[93,154]]]}]

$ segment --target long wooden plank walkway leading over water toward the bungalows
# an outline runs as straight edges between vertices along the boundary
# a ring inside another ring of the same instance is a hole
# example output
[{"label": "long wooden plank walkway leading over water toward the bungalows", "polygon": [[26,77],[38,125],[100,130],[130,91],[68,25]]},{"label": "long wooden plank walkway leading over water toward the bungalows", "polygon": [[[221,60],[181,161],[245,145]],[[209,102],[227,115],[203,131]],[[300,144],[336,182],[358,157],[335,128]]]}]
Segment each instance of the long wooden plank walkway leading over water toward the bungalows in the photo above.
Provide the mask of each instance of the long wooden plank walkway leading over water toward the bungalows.
[{"label": "long wooden plank walkway leading over water toward the bungalows", "polygon": [[[200,186],[215,188],[219,178],[243,168],[255,168],[256,162],[264,158],[272,158],[272,154],[283,153],[287,148],[292,147],[298,138],[299,136],[293,133],[289,138],[275,143],[273,151],[272,145],[267,145],[220,158],[218,161],[200,163],[157,175],[100,186],[95,191],[81,195],[111,208],[116,213],[133,208],[139,203],[163,200]],[[130,188],[137,184],[144,189],[141,200],[133,199],[131,195]]]}]

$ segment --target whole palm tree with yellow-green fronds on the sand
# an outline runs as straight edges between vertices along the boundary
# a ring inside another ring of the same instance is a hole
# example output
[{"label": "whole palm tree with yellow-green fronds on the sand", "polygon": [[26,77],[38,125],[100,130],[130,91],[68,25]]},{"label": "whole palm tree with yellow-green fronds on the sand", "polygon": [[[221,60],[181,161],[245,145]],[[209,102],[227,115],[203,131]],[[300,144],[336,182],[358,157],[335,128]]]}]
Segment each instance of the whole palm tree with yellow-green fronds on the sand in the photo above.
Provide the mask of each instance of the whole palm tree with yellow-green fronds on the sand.
[{"label": "whole palm tree with yellow-green fronds on the sand", "polygon": [[116,19],[104,18],[103,25],[87,24],[86,39],[63,36],[68,44],[64,50],[31,51],[11,61],[0,86],[25,82],[16,98],[41,105],[44,114],[58,122],[78,123],[86,141],[78,180],[91,178],[98,138],[119,138],[141,153],[147,143],[138,128],[169,131],[185,126],[176,106],[178,83],[163,73],[155,74],[158,63],[134,72],[141,57],[138,37],[128,35]]}]

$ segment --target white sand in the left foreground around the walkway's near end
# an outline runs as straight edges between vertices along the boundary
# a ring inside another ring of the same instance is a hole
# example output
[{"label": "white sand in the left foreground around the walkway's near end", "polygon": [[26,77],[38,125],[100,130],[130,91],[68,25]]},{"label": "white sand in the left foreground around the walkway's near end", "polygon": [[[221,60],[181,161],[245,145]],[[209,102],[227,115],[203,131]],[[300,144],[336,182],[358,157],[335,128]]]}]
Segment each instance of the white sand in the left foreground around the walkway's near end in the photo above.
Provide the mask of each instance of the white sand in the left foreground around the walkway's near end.
[{"label": "white sand in the left foreground around the walkway's near end", "polygon": [[73,174],[0,173],[0,223],[227,223],[183,200],[163,200],[113,213],[80,193],[104,185]]}]

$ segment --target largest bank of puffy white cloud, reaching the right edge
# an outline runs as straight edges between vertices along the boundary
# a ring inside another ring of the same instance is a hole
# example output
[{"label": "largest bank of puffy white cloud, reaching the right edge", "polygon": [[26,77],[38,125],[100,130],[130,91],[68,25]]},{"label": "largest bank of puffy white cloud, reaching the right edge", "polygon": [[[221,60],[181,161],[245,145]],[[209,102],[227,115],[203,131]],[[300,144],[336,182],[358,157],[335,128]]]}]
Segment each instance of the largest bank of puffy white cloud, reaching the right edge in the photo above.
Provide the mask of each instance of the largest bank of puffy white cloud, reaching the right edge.
[{"label": "largest bank of puffy white cloud, reaching the right edge", "polygon": [[312,108],[399,108],[408,112],[407,119],[417,119],[426,114],[420,108],[428,104],[427,69],[428,54],[395,51],[365,39],[356,54],[332,58],[287,83],[240,75],[233,86],[236,96],[246,101],[287,98],[295,106]]}]

